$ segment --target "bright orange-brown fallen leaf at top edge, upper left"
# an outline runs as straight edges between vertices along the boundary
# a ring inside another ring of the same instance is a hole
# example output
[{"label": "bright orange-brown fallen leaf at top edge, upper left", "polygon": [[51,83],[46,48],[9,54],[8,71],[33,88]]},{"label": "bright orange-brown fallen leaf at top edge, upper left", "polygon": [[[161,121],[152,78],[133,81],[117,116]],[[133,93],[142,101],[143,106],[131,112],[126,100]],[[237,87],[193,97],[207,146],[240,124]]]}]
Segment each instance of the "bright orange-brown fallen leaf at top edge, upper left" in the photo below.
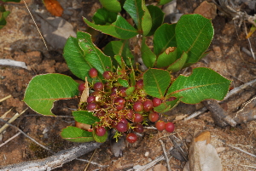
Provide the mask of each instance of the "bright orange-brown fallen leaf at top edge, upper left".
[{"label": "bright orange-brown fallen leaf at top edge, upper left", "polygon": [[60,17],[63,13],[61,4],[56,0],[44,0],[44,6],[50,14]]}]

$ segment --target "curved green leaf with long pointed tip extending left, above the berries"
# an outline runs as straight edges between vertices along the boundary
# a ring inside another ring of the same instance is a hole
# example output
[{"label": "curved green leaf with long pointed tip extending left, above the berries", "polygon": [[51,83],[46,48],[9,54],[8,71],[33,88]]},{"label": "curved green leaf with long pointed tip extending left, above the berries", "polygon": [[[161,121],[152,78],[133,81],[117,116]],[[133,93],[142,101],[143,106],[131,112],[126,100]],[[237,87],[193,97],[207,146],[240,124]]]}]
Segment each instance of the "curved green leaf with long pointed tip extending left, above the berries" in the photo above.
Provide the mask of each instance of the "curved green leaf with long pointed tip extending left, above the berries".
[{"label": "curved green leaf with long pointed tip extending left, above the berries", "polygon": [[122,16],[118,15],[117,16],[117,20],[115,22],[113,22],[112,24],[108,25],[108,26],[100,26],[100,25],[96,25],[94,23],[91,23],[89,20],[84,18],[84,22],[98,30],[98,31],[102,31],[105,34],[108,34],[110,36],[113,37],[117,37],[119,39],[128,39],[131,37],[135,37],[138,33],[137,30],[131,26],[127,20],[125,20]]}]

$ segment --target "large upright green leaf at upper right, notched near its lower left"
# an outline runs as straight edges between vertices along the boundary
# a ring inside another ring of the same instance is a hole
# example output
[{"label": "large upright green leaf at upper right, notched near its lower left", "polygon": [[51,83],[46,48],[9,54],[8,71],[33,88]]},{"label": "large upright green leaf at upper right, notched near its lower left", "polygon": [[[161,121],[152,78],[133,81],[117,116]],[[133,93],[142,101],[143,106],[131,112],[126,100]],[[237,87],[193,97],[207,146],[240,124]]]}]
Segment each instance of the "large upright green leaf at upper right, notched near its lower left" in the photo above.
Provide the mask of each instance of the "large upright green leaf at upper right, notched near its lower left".
[{"label": "large upright green leaf at upper right, notched near its lower left", "polygon": [[177,21],[175,28],[177,56],[186,52],[188,54],[186,63],[196,63],[212,42],[213,31],[210,19],[201,14],[184,14]]}]

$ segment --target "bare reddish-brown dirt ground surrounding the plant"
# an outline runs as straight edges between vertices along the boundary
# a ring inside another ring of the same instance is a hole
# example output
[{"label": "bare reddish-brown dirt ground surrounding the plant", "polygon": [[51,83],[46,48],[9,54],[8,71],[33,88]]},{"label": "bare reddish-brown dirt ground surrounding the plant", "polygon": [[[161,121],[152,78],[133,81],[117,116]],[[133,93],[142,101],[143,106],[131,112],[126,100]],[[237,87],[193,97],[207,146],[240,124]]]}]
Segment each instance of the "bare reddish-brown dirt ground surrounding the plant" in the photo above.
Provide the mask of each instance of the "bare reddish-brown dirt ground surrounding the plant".
[{"label": "bare reddish-brown dirt ground surrounding the plant", "polygon": [[[63,18],[68,20],[74,30],[85,31],[86,26],[82,20],[82,16],[91,17],[96,9],[100,8],[98,1],[75,1],[79,4],[78,9],[74,8],[74,3],[67,3],[65,0],[59,1],[64,9],[70,8],[72,14],[64,14]],[[44,9],[41,1],[26,0],[29,7]],[[177,9],[183,14],[192,13],[193,10],[201,3],[201,1],[180,1],[177,3]],[[32,77],[45,73],[62,73],[77,79],[68,70],[67,64],[62,57],[62,50],[49,46],[47,50],[44,42],[40,38],[36,26],[34,26],[30,15],[26,10],[24,3],[11,3],[6,5],[11,11],[8,17],[8,24],[0,30],[0,56],[2,59],[11,59],[23,61],[28,69],[12,66],[0,66],[0,100],[8,95],[12,95],[8,100],[0,102],[1,116],[9,111],[6,118],[13,117],[15,113],[26,110],[27,106],[22,102],[26,86]],[[50,14],[49,14],[50,16]],[[211,52],[200,62],[189,67],[191,71],[195,67],[210,67],[214,71],[222,74],[224,77],[232,80],[232,87],[236,88],[243,83],[247,83],[256,77],[255,60],[251,56],[243,53],[241,48],[248,48],[248,43],[244,27],[237,27],[233,21],[224,17],[217,16],[212,20],[214,26],[214,38],[210,46]],[[247,26],[249,28],[249,25]],[[256,47],[255,34],[251,37],[252,47]],[[49,44],[48,44],[49,45]],[[256,50],[256,49],[253,49]],[[228,112],[236,112],[240,106],[247,100],[255,96],[254,87],[246,88],[238,94],[230,97],[222,104],[224,110]],[[37,140],[39,143],[47,146],[52,151],[61,151],[67,149],[75,143],[62,140],[60,136],[61,128],[73,125],[71,111],[68,108],[75,108],[77,101],[61,101],[55,106],[55,113],[64,117],[44,117],[37,115],[35,111],[28,109],[13,123],[22,129],[26,134]],[[178,105],[177,108],[169,112],[168,119],[173,120],[177,116],[189,115],[200,108],[198,105]],[[0,123],[0,125],[3,125]],[[216,148],[224,147],[224,151],[218,153],[222,160],[223,170],[255,170],[247,166],[255,167],[255,157],[251,157],[241,151],[237,151],[228,145],[224,145],[219,140],[224,140],[229,145],[235,145],[244,151],[256,153],[256,121],[242,123],[236,128],[225,127],[219,128],[215,126],[211,113],[206,112],[199,117],[195,117],[187,122],[177,121],[175,123],[175,135],[183,140],[183,143],[189,145],[191,137],[202,131],[211,133],[211,143]],[[18,133],[15,128],[7,128],[3,134],[0,134],[0,145],[9,140],[10,137]],[[97,165],[90,164],[87,170],[127,170],[134,165],[144,165],[155,157],[163,154],[163,150],[159,140],[163,140],[166,148],[172,146],[165,131],[158,132],[154,129],[146,129],[143,137],[140,138],[136,145],[127,145],[123,157],[114,157],[110,151],[108,143],[96,150],[92,157],[93,162],[108,166],[107,168],[99,168]],[[38,145],[23,135],[19,135],[8,144],[3,145],[0,151],[0,166],[9,165],[17,162],[31,161],[34,159],[50,156]],[[92,152],[81,158],[90,160]],[[148,153],[148,155],[145,155]],[[55,170],[84,170],[87,162],[74,160],[63,165],[62,168]],[[166,167],[166,162],[157,163],[161,170]],[[184,162],[180,162],[175,158],[171,158],[170,164],[172,170],[183,170]],[[244,166],[247,165],[247,166]],[[155,166],[156,167],[156,166]],[[160,169],[159,168],[159,169]],[[159,170],[155,168],[154,170]]]}]

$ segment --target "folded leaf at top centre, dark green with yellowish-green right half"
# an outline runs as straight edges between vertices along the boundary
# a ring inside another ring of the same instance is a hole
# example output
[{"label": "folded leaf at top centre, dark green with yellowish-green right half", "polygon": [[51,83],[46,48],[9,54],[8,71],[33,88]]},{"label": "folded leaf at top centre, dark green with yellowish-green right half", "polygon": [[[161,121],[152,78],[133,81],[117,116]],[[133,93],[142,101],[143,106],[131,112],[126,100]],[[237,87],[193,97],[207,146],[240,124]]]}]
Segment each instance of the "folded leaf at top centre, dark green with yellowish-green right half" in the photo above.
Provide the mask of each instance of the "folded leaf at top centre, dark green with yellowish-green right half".
[{"label": "folded leaf at top centre, dark green with yellowish-green right half", "polygon": [[152,27],[152,19],[145,2],[143,0],[126,0],[123,8],[131,15],[138,31],[144,36],[148,35]]}]

